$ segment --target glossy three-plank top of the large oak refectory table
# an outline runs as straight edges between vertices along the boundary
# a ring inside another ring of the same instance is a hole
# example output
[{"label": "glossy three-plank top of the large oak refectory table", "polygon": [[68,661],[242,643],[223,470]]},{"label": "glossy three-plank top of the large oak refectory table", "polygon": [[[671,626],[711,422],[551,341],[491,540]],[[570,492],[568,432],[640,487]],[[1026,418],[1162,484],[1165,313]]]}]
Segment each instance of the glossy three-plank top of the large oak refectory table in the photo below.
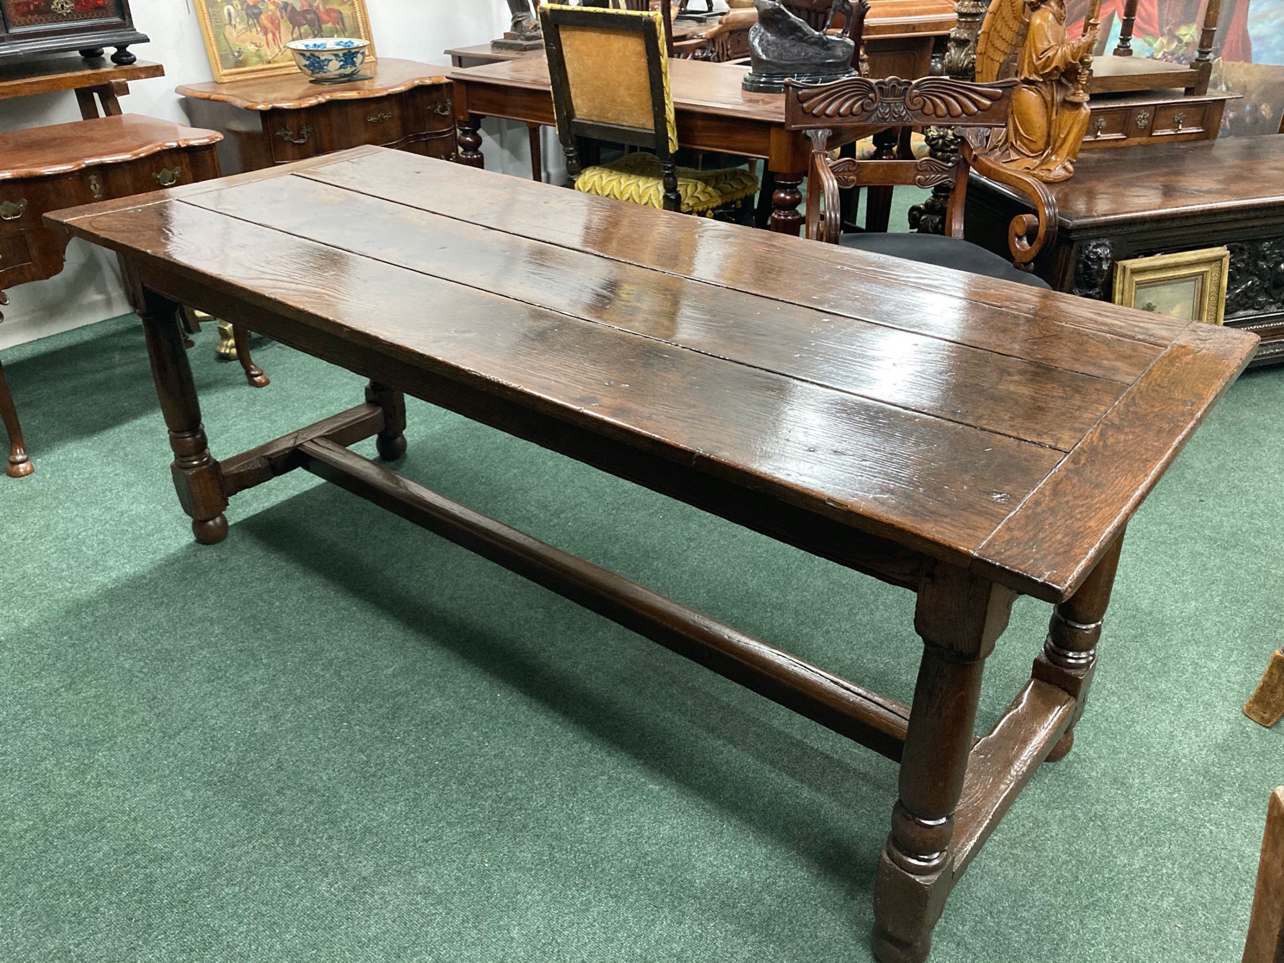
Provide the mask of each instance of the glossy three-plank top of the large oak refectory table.
[{"label": "glossy three-plank top of the large oak refectory table", "polygon": [[1257,343],[377,148],[49,220],[1050,601]]}]

